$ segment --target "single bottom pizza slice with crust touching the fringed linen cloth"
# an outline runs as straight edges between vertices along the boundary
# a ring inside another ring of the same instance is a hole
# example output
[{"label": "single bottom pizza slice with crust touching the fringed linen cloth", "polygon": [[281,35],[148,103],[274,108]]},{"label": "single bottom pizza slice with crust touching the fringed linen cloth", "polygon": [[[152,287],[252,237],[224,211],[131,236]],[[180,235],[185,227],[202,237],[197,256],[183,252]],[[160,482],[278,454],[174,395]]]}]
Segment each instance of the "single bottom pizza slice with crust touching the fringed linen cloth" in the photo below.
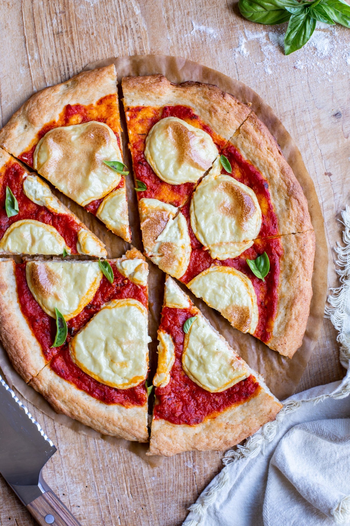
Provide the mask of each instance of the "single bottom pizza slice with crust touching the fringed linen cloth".
[{"label": "single bottom pizza slice with crust touching the fringed linen cloth", "polygon": [[149,454],[226,450],[275,419],[282,404],[167,277]]}]

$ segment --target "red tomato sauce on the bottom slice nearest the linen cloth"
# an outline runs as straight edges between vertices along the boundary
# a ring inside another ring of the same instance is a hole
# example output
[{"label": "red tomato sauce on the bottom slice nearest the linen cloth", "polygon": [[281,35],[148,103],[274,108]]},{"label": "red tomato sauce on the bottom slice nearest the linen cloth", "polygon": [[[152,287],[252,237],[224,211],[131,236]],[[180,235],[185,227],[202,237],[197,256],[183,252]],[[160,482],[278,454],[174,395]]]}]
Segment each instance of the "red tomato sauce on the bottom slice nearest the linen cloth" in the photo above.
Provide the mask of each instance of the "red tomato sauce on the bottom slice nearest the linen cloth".
[{"label": "red tomato sauce on the bottom slice nearest the linen cloth", "polygon": [[154,407],[155,419],[162,418],[174,424],[190,426],[215,418],[225,409],[256,396],[260,390],[259,383],[252,375],[220,393],[210,393],[188,378],[181,362],[185,338],[183,325],[193,315],[191,308],[163,308],[161,329],[171,335],[174,341],[175,362],[168,385],[155,389]]}]

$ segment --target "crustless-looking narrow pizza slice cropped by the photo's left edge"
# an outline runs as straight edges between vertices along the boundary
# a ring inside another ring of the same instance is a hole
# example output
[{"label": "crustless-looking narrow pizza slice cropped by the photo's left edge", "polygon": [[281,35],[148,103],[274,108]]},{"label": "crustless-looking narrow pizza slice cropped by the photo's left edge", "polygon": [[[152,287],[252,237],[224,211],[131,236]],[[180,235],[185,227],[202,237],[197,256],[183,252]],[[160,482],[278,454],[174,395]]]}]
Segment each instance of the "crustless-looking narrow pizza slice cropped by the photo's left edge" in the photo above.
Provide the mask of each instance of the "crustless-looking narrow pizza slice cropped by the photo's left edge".
[{"label": "crustless-looking narrow pizza slice cropped by the photo's left edge", "polygon": [[0,148],[0,255],[107,257],[103,243],[49,186]]}]

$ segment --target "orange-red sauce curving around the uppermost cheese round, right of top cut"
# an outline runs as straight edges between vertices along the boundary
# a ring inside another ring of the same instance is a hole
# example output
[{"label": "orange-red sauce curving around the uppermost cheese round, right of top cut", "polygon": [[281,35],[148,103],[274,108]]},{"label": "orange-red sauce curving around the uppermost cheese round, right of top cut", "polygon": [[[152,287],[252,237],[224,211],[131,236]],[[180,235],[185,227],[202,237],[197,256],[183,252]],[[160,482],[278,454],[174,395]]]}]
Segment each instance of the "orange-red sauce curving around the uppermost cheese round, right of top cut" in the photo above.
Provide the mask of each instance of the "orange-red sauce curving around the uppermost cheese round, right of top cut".
[{"label": "orange-red sauce curving around the uppermost cheese round, right of top cut", "polygon": [[188,124],[206,131],[213,138],[219,150],[225,146],[226,140],[215,134],[187,106],[165,106],[164,108],[135,106],[126,108],[126,117],[128,119],[129,147],[132,155],[134,177],[142,181],[147,187],[147,190],[137,192],[138,199],[148,197],[159,199],[176,207],[183,205],[192,194],[196,185],[194,183],[169,185],[154,173],[144,156],[146,137],[150,129],[160,119],[178,117],[185,120]]}]

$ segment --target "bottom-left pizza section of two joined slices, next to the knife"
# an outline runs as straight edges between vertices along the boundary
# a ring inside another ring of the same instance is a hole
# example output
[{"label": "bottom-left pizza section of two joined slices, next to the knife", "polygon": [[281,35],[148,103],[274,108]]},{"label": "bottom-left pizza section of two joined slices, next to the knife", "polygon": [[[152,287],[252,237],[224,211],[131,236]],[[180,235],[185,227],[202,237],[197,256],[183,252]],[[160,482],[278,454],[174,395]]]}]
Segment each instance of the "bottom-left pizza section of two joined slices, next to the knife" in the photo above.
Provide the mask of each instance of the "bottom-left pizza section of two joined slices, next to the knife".
[{"label": "bottom-left pizza section of two joined slices, next to the knife", "polygon": [[0,337],[58,412],[148,440],[148,266],[136,249],[99,261],[0,261]]}]

